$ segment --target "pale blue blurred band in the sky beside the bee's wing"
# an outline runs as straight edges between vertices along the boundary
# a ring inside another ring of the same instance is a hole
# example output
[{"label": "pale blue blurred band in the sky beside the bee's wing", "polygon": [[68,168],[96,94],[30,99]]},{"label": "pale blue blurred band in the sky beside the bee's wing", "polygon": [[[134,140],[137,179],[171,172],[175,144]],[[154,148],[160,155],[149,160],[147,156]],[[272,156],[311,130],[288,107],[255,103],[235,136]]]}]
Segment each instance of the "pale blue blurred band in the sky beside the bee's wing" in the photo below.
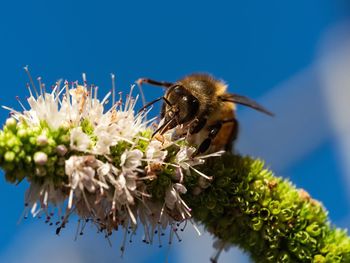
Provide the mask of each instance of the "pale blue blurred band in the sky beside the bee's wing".
[{"label": "pale blue blurred band in the sky beside the bee's wing", "polygon": [[331,134],[319,76],[312,67],[273,88],[259,102],[276,116],[247,108],[239,111],[236,148],[262,157],[277,173],[303,159]]}]

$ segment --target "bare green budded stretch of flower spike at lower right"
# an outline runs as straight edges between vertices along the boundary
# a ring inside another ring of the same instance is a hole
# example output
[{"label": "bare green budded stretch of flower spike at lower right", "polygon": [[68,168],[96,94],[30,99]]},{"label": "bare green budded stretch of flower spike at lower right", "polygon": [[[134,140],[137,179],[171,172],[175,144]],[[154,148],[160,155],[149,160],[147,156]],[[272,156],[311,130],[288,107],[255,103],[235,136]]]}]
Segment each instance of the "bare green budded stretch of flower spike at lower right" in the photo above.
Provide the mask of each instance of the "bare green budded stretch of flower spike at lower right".
[{"label": "bare green budded stretch of flower spike at lower right", "polygon": [[194,176],[185,182],[194,219],[254,262],[350,262],[346,231],[331,226],[321,203],[263,161],[225,154],[201,171],[214,177],[204,189]]}]

